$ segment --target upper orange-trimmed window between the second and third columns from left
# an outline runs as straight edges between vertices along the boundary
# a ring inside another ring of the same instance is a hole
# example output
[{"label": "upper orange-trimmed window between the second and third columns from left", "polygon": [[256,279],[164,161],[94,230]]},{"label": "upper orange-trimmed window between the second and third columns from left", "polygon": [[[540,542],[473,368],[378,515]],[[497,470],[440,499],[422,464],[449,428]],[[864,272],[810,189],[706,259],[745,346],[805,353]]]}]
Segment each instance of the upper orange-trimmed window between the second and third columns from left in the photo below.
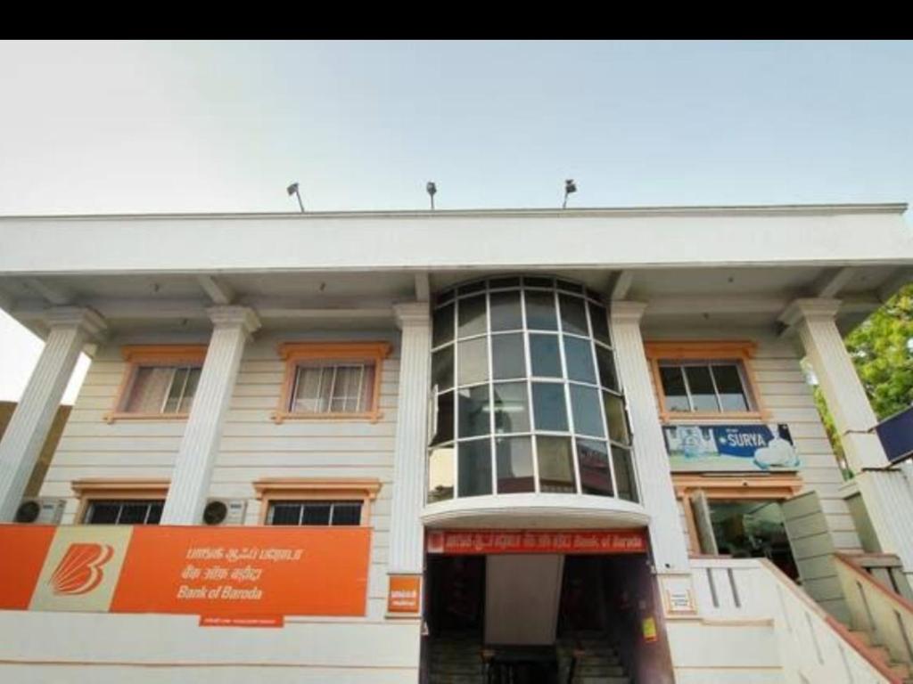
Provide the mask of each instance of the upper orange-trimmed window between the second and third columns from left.
[{"label": "upper orange-trimmed window between the second and third columns from left", "polygon": [[291,342],[277,422],[289,419],[378,420],[387,342]]}]

